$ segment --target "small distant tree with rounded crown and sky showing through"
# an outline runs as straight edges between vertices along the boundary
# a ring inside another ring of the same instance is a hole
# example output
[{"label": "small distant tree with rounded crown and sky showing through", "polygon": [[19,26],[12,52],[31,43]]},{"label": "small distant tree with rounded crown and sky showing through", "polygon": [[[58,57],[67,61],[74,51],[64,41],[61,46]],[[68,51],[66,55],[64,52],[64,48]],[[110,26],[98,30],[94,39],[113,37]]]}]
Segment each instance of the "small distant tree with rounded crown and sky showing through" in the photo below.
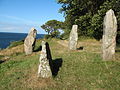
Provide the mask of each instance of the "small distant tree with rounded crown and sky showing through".
[{"label": "small distant tree with rounded crown and sky showing through", "polygon": [[44,29],[48,35],[52,37],[58,37],[60,34],[59,30],[63,28],[63,22],[50,20],[43,24],[41,28]]}]

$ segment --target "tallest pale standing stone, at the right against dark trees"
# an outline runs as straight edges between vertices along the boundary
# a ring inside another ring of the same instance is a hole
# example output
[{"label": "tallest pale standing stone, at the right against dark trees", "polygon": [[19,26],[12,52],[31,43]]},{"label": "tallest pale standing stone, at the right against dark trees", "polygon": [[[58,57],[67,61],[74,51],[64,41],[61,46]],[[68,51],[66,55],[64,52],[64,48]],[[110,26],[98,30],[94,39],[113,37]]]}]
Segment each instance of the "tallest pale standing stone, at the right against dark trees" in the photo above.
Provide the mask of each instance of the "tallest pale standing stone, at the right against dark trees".
[{"label": "tallest pale standing stone, at the right against dark trees", "polygon": [[103,23],[103,43],[102,57],[103,60],[111,60],[115,54],[117,35],[117,20],[114,11],[110,9],[104,18]]}]

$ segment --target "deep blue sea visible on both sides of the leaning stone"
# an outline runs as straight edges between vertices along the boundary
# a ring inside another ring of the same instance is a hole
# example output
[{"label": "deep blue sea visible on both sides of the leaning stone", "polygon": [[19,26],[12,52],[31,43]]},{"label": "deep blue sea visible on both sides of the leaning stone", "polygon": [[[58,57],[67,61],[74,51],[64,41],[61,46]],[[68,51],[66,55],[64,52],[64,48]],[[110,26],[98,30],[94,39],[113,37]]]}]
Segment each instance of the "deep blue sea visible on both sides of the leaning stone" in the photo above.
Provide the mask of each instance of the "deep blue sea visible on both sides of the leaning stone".
[{"label": "deep blue sea visible on both sides of the leaning stone", "polygon": [[[7,48],[11,42],[24,40],[27,36],[27,33],[9,33],[9,32],[0,32],[0,49]],[[37,34],[36,39],[43,38],[44,34]]]}]

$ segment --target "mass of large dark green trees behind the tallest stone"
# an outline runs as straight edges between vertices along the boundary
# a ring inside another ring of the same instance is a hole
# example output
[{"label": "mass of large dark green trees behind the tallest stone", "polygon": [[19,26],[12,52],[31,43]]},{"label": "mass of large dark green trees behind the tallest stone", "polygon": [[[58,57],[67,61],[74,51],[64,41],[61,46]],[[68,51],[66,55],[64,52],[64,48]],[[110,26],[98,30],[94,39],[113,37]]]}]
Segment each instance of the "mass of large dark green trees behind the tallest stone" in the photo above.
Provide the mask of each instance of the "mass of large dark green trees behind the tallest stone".
[{"label": "mass of large dark green trees behind the tallest stone", "polygon": [[79,36],[101,39],[103,19],[109,9],[113,9],[118,21],[117,42],[120,40],[120,0],[57,0],[62,4],[60,12],[65,14],[65,24],[71,30],[73,24],[79,26]]}]

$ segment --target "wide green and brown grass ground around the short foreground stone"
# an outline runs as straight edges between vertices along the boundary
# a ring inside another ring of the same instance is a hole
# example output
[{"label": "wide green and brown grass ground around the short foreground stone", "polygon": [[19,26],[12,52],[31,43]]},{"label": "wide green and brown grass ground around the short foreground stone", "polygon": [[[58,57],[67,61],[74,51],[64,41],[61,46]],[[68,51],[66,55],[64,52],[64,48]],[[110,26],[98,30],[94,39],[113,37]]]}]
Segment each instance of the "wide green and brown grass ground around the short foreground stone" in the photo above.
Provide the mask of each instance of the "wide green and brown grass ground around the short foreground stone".
[{"label": "wide green and brown grass ground around the short foreground stone", "polygon": [[[52,80],[37,78],[40,52],[13,55],[0,64],[0,90],[119,90],[120,61],[102,61],[99,53],[69,51],[58,40],[47,40],[53,60],[62,58]],[[38,40],[36,48],[40,46]],[[92,47],[93,48],[93,47]],[[119,52],[118,52],[119,54]]]}]

